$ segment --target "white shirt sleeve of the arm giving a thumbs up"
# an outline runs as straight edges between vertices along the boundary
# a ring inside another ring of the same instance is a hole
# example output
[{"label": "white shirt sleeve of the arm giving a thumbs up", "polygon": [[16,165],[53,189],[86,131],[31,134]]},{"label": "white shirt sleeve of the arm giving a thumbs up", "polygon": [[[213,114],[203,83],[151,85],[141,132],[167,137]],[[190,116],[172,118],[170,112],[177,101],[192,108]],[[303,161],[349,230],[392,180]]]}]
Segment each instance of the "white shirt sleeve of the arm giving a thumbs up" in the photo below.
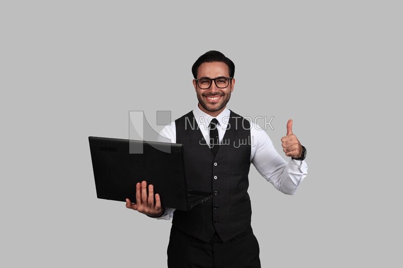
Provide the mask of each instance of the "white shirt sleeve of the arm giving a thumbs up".
[{"label": "white shirt sleeve of the arm giving a thumbs up", "polygon": [[251,150],[251,162],[256,170],[277,190],[287,195],[294,195],[298,186],[308,174],[305,160],[290,157],[289,162],[277,152],[267,133],[257,125],[252,126],[254,140]]}]

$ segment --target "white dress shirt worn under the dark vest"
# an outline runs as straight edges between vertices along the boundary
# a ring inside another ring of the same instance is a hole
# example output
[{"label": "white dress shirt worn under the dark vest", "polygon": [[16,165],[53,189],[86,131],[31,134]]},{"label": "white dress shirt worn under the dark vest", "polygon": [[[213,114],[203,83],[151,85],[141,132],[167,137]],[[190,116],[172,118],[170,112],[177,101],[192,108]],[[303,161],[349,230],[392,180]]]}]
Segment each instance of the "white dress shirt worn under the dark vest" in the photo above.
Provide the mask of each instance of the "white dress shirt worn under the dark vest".
[{"label": "white dress shirt worn under the dark vest", "polygon": [[[218,135],[220,143],[223,140],[225,130],[228,127],[230,117],[230,110],[224,109],[217,117],[212,117],[205,112],[201,111],[198,105],[193,110],[193,115],[196,119],[197,125],[205,137],[206,142],[210,145],[209,137],[209,124],[213,118],[218,120]],[[258,125],[250,122],[250,161],[255,166],[256,170],[266,179],[267,182],[283,192],[284,194],[293,195],[297,191],[298,186],[307,175],[308,166],[305,161],[299,161],[290,157],[289,162],[277,152],[273,146],[272,140],[268,137],[267,133]],[[239,127],[239,126],[238,126]],[[160,132],[160,135],[171,140],[172,143],[176,142],[176,126],[175,122],[167,125]],[[160,140],[162,141],[162,139]],[[172,219],[175,209],[165,208],[164,214],[157,219]]]}]

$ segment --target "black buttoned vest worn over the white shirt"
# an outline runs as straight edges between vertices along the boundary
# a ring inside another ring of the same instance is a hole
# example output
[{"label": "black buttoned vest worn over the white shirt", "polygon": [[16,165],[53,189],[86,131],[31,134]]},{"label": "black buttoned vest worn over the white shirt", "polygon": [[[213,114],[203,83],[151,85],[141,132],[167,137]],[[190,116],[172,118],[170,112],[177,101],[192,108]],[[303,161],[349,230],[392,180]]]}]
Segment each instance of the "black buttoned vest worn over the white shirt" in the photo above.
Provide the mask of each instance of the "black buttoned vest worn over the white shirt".
[{"label": "black buttoned vest worn over the white shirt", "polygon": [[176,142],[184,144],[188,189],[215,195],[190,211],[175,210],[172,224],[206,242],[215,230],[227,241],[250,226],[250,123],[232,111],[228,123],[214,157],[193,112],[175,120]]}]

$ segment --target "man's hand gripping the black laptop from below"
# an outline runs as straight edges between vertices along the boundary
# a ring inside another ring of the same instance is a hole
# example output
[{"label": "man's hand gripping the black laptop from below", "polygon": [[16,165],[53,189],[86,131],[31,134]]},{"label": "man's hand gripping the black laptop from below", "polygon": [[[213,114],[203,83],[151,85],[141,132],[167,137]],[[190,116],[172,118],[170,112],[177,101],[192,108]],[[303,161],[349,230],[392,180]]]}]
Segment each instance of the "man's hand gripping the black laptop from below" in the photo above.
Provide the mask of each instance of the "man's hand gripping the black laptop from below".
[{"label": "man's hand gripping the black laptop from below", "polygon": [[141,184],[136,184],[136,204],[131,203],[130,199],[126,198],[126,208],[137,210],[149,217],[159,217],[164,214],[165,209],[161,207],[160,195],[155,194],[154,202],[154,187],[148,186],[147,182],[143,181]]}]

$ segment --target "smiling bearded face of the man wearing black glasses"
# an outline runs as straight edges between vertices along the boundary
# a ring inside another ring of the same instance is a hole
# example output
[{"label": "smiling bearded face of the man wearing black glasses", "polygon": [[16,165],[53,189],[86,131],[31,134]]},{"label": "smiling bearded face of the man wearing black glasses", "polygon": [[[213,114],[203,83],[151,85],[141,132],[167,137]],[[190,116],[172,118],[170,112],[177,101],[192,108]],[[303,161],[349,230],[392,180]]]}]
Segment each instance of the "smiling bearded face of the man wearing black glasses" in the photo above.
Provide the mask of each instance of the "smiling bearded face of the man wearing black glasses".
[{"label": "smiling bearded face of the man wearing black glasses", "polygon": [[[205,62],[201,63],[197,69],[197,79],[230,77],[227,64],[224,62]],[[197,100],[201,111],[211,115],[219,115],[231,98],[231,92],[234,90],[235,79],[232,79],[225,88],[218,88],[212,81],[211,86],[206,90],[201,89],[195,80],[193,86],[196,90]]]}]

